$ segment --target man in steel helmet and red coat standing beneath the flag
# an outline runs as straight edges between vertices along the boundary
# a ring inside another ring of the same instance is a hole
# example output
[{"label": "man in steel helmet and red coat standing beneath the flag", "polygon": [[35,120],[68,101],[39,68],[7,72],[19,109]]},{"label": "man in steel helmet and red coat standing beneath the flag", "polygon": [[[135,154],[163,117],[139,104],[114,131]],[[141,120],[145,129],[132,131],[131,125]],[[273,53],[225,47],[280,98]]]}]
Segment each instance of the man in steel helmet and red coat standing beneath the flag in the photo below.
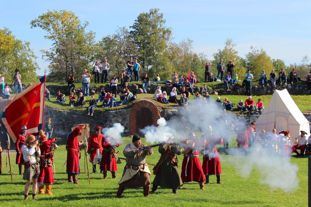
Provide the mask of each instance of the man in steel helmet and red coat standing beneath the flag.
[{"label": "man in steel helmet and red coat standing beneath the flag", "polygon": [[21,132],[16,136],[16,142],[15,142],[15,146],[16,146],[16,164],[18,164],[18,170],[19,170],[19,174],[23,175],[22,173],[22,164],[24,164],[24,158],[23,158],[23,154],[21,153],[21,147],[23,146],[23,144],[26,141],[26,138],[28,137],[28,135],[34,135],[37,136],[39,134],[39,132],[36,133],[28,133],[27,132],[27,127],[26,125],[24,125],[21,128]]}]

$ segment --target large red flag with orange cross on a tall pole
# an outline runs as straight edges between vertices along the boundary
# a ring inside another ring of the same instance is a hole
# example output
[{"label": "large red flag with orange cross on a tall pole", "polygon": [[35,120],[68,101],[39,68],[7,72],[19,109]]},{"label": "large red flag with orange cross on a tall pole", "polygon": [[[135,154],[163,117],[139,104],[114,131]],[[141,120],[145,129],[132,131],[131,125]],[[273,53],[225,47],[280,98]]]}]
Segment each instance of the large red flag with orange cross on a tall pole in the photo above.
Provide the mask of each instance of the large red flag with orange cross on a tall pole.
[{"label": "large red flag with orange cross on a tall pole", "polygon": [[44,87],[45,75],[4,107],[1,119],[14,142],[23,125],[30,133],[43,129]]}]

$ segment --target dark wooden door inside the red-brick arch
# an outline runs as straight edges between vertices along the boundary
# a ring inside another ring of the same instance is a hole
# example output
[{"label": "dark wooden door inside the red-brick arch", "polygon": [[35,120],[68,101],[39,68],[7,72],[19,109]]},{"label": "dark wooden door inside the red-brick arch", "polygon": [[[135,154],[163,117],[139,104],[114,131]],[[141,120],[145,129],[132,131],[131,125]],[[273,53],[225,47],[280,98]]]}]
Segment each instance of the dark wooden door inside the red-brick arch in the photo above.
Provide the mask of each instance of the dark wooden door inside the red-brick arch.
[{"label": "dark wooden door inside the red-brick arch", "polygon": [[146,107],[138,109],[136,112],[136,133],[142,137],[144,134],[140,130],[146,126],[151,126],[152,124],[152,111]]}]

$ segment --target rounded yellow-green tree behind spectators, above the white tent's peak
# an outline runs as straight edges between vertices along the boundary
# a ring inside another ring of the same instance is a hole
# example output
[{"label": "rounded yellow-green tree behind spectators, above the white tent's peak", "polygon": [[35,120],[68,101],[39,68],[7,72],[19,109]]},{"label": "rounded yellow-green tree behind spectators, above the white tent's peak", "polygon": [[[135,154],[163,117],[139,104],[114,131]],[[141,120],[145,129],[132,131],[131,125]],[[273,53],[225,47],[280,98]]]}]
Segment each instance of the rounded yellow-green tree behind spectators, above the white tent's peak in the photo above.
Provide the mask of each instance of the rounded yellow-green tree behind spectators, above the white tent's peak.
[{"label": "rounded yellow-green tree behind spectators, above the white tent's peak", "polygon": [[262,73],[262,70],[271,71],[274,69],[270,56],[262,48],[257,49],[251,46],[251,52],[246,54],[246,65],[251,70],[254,79],[258,78]]}]

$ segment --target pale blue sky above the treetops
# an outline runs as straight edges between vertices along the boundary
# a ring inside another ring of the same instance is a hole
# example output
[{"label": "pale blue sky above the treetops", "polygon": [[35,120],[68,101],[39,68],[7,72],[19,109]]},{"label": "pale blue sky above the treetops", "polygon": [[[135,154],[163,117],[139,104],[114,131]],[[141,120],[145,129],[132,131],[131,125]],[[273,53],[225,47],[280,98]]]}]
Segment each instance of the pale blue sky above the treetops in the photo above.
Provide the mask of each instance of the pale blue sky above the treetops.
[{"label": "pale blue sky above the treetops", "polygon": [[96,40],[113,34],[118,27],[133,25],[137,16],[151,8],[164,14],[174,42],[193,40],[193,52],[204,52],[209,60],[227,38],[236,43],[239,56],[250,46],[262,47],[272,58],[285,64],[311,58],[311,1],[4,1],[0,8],[0,29],[7,27],[16,38],[29,41],[39,58],[40,71],[49,65],[41,59],[40,49],[49,49],[40,28],[30,29],[30,21],[48,10],[73,11]]}]

